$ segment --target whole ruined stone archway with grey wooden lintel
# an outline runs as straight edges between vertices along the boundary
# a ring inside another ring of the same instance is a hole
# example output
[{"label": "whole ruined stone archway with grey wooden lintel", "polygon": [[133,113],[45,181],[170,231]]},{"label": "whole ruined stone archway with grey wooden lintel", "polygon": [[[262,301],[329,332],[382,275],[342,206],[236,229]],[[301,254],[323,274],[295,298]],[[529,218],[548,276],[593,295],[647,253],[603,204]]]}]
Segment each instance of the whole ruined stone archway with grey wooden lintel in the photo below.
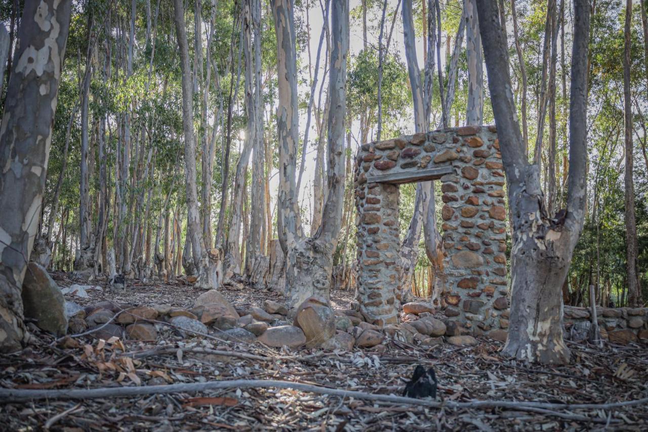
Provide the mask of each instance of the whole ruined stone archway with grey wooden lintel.
[{"label": "whole ruined stone archway with grey wooden lintel", "polygon": [[507,328],[501,158],[494,126],[445,128],[362,145],[354,178],[357,283],[368,322],[397,322],[399,184],[441,180],[446,317],[471,333]]}]

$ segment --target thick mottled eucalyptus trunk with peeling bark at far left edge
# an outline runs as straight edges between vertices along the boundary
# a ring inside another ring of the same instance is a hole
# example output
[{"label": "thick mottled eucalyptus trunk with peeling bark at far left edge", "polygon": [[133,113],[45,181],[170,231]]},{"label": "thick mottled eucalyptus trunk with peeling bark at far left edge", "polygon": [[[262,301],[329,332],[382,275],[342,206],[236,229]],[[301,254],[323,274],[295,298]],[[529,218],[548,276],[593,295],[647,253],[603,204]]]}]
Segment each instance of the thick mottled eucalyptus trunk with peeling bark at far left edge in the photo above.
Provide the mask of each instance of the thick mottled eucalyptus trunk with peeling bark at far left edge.
[{"label": "thick mottled eucalyptus trunk with peeling bark at far left edge", "polygon": [[0,352],[28,337],[21,290],[43,202],[71,1],[28,1],[0,129]]}]

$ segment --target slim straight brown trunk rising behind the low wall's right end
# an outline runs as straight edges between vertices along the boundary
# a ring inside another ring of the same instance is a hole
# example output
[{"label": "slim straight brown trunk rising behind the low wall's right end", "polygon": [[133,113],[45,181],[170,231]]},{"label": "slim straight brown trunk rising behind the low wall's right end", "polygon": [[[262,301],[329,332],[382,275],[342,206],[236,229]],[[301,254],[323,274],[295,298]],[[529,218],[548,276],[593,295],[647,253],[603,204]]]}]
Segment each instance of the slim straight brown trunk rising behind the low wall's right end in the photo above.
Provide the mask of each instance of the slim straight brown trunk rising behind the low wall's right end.
[{"label": "slim straight brown trunk rising behind the low wall's right end", "polygon": [[632,37],[632,0],[625,1],[625,27],[623,43],[623,119],[625,132],[625,247],[628,276],[628,305],[639,306],[640,287],[637,252],[637,221],[634,214],[634,184],[632,170],[634,167],[634,146],[632,144],[632,101],[630,89],[631,37]]}]

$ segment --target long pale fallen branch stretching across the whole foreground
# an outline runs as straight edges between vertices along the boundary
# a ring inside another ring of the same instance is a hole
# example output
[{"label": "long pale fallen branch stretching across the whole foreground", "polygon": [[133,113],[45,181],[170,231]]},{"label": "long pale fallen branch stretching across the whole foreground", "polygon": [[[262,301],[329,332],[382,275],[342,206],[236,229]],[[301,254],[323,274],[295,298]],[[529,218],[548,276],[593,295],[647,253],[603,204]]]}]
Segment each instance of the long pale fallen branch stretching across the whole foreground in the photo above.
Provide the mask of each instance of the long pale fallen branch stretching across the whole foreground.
[{"label": "long pale fallen branch stretching across the whole foreground", "polygon": [[[432,400],[404,398],[389,394],[372,394],[354,390],[330,389],[319,385],[295,383],[292,381],[279,381],[274,379],[233,379],[229,381],[207,381],[206,383],[187,383],[170,385],[150,385],[143,387],[104,387],[99,389],[64,389],[64,390],[24,390],[24,389],[0,389],[0,403],[12,403],[38,399],[91,399],[91,398],[126,398],[143,394],[161,394],[178,392],[197,392],[215,389],[249,389],[268,388],[294,389],[317,394],[328,394],[329,396],[340,396],[342,398],[356,398],[380,402],[391,402],[408,405],[422,405],[425,407],[451,409],[491,409],[503,408],[516,411],[538,412],[538,409],[614,409],[631,407],[648,403],[648,398],[630,400],[616,403],[550,403],[550,402],[524,402],[524,401],[494,401],[483,400],[474,402],[436,402]],[[547,412],[547,414],[553,414]],[[573,414],[569,414],[570,416]],[[566,418],[565,416],[563,416]],[[587,418],[588,421],[598,422],[601,418]]]}]

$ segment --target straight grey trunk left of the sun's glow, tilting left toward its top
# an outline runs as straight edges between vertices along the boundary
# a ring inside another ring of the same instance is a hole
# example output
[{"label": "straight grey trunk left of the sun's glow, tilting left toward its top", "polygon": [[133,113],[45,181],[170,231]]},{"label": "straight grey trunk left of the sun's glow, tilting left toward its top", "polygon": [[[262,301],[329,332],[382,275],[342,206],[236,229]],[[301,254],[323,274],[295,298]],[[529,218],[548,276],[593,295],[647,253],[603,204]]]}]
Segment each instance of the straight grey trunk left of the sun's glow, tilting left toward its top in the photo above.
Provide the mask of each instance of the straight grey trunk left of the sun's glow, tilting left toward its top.
[{"label": "straight grey trunk left of the sun's glow, tilting left toward its top", "polygon": [[181,0],[174,0],[174,21],[178,34],[180,69],[182,71],[182,119],[185,141],[185,189],[187,192],[187,241],[191,244],[193,263],[200,272],[205,254],[198,214],[198,191],[196,188],[196,147],[194,139],[193,101],[191,93],[191,69],[189,67],[189,44],[185,31],[185,11]]}]

